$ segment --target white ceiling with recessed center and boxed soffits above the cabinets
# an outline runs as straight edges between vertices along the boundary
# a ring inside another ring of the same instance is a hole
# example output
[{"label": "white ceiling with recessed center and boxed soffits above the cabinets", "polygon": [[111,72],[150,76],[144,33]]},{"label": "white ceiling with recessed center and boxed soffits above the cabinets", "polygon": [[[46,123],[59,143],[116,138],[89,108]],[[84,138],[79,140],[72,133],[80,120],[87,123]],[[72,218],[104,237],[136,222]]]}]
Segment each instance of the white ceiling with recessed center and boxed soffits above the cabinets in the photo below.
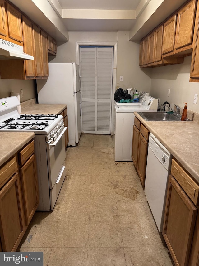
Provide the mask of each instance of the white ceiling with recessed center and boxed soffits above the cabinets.
[{"label": "white ceiling with recessed center and boxed soffits above the cabinets", "polygon": [[68,31],[129,31],[129,39],[139,42],[187,0],[10,1],[63,43]]}]

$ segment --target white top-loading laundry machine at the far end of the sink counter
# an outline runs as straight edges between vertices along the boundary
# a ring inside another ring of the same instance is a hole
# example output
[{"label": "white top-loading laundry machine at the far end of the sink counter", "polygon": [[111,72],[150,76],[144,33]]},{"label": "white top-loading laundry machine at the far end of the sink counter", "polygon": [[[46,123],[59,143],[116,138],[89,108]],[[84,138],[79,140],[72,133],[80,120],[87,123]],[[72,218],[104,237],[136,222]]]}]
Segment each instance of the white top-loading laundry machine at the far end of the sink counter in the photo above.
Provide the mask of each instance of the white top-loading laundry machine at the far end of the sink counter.
[{"label": "white top-loading laundry machine at the far end of the sink counter", "polygon": [[134,112],[157,111],[158,99],[144,93],[141,102],[137,103],[116,103],[114,104],[114,135],[113,146],[115,161],[132,162],[132,139]]}]

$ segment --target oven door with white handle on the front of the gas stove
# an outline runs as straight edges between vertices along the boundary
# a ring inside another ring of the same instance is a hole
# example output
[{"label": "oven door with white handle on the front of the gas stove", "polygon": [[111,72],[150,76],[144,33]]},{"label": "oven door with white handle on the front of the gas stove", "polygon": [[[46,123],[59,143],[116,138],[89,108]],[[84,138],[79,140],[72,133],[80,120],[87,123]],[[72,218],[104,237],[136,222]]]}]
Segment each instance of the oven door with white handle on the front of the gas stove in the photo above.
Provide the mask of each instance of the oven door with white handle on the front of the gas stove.
[{"label": "oven door with white handle on the front of the gas stove", "polygon": [[65,161],[66,151],[64,133],[66,129],[67,127],[62,127],[61,130],[55,134],[55,137],[46,143],[50,189],[53,188],[57,181]]}]

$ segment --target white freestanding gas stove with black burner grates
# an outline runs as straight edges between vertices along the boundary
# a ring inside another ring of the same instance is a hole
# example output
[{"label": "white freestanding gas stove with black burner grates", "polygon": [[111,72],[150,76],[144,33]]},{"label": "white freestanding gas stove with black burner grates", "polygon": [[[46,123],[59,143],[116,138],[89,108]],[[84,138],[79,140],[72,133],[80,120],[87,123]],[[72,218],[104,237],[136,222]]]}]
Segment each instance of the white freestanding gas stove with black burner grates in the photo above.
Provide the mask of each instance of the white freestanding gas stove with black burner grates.
[{"label": "white freestanding gas stove with black burner grates", "polygon": [[34,146],[39,183],[37,210],[53,210],[64,178],[65,136],[62,115],[20,115],[16,96],[0,99],[0,132],[35,132]]}]

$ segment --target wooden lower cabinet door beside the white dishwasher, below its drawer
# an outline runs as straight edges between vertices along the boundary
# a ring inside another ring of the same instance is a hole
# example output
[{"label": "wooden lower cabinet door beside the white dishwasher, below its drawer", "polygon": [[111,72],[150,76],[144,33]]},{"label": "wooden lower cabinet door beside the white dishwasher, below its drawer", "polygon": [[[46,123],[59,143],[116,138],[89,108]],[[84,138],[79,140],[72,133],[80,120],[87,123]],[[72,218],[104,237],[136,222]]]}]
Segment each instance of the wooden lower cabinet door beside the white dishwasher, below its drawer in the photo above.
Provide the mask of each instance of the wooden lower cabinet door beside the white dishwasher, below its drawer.
[{"label": "wooden lower cabinet door beside the white dishwasher, below its drawer", "polygon": [[197,208],[169,176],[163,236],[175,265],[187,265],[192,244]]}]

